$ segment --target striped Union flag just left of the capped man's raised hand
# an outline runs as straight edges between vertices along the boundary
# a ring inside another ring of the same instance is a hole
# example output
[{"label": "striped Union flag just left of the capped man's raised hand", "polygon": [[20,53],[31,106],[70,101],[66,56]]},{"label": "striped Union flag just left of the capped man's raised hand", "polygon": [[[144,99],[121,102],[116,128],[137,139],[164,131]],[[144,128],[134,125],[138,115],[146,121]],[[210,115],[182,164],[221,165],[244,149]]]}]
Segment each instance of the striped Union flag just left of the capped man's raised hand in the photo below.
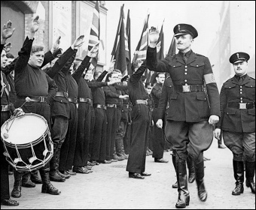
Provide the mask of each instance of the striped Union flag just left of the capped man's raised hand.
[{"label": "striped Union flag just left of the capped man's raised hand", "polygon": [[148,18],[149,13],[147,14],[147,17],[145,18],[144,21],[142,35],[136,47],[136,51],[134,52],[133,62],[136,62],[137,59],[144,61],[146,58],[148,48]]}]

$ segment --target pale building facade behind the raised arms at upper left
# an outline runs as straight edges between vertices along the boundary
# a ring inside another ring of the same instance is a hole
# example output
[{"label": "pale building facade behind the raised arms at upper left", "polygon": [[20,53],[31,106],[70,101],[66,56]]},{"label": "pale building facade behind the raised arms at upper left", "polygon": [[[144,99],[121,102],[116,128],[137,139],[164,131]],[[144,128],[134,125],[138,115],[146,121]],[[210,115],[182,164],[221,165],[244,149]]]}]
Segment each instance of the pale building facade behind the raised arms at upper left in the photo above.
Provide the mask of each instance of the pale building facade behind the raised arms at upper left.
[{"label": "pale building facade behind the raised arms at upper left", "polygon": [[[107,9],[105,1],[99,3],[101,44],[97,71],[102,71],[106,64]],[[16,28],[13,36],[8,39],[12,45],[10,52],[17,56],[33,18],[38,15],[40,26],[34,44],[44,45],[47,51],[60,35],[59,47],[66,50],[79,35],[84,34],[84,44],[77,53],[78,57],[84,58],[87,55],[95,5],[96,1],[1,1],[1,28],[8,20]]]}]

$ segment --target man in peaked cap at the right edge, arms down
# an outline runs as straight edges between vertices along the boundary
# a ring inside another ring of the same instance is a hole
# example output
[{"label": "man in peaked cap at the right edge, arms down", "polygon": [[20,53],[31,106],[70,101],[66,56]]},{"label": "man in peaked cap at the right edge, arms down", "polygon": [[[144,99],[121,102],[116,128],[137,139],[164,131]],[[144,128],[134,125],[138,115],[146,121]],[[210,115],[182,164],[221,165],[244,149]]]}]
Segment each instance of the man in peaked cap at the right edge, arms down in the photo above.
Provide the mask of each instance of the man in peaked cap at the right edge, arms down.
[{"label": "man in peaked cap at the right edge, arms down", "polygon": [[239,195],[244,190],[243,156],[245,184],[255,193],[255,80],[247,74],[249,58],[245,52],[236,52],[230,56],[235,76],[221,88],[221,119],[215,129],[216,138],[220,138],[223,131],[224,143],[233,152],[236,179],[233,195]]}]

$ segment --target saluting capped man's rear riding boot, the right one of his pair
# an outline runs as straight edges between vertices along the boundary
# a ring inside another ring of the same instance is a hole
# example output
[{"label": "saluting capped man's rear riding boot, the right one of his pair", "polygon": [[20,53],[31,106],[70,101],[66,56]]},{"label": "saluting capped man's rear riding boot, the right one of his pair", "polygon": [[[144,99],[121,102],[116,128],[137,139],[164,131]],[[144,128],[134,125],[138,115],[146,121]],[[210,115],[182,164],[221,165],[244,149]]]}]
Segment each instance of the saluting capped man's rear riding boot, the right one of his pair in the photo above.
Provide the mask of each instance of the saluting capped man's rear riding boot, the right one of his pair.
[{"label": "saluting capped man's rear riding boot, the right one of his pair", "polygon": [[203,166],[203,154],[194,160],[194,169],[197,181],[197,193],[201,201],[205,202],[207,199],[206,187],[203,182],[204,177],[204,166]]}]

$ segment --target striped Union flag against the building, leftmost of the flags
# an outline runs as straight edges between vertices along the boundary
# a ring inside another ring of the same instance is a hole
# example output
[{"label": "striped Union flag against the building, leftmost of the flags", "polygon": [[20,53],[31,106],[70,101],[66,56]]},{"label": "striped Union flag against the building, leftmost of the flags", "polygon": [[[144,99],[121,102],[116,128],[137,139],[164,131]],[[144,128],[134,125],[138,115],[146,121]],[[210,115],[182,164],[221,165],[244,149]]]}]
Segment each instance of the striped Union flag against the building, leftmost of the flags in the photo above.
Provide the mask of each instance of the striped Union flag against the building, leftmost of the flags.
[{"label": "striped Union flag against the building, leftmost of the flags", "polygon": [[[96,1],[96,5],[93,10],[93,22],[92,26],[90,28],[90,37],[89,37],[89,43],[88,43],[88,51],[93,48],[93,46],[99,42],[99,1]],[[95,68],[98,62],[98,55],[96,55],[95,58],[91,58],[90,60],[91,64]]]}]

